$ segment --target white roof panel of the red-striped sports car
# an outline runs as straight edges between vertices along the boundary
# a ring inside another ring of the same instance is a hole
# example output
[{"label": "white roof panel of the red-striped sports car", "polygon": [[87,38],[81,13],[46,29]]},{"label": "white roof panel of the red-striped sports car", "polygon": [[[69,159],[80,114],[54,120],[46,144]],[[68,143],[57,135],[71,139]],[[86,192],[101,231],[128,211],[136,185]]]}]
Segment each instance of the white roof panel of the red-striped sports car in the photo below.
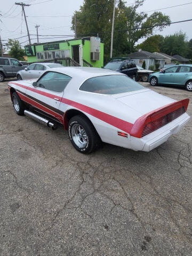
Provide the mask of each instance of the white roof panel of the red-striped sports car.
[{"label": "white roof panel of the red-striped sports car", "polygon": [[114,70],[103,69],[103,68],[89,68],[89,67],[62,67],[62,68],[52,68],[51,71],[59,72],[70,77],[78,77],[80,80],[87,79],[96,76],[105,75],[124,75]]}]

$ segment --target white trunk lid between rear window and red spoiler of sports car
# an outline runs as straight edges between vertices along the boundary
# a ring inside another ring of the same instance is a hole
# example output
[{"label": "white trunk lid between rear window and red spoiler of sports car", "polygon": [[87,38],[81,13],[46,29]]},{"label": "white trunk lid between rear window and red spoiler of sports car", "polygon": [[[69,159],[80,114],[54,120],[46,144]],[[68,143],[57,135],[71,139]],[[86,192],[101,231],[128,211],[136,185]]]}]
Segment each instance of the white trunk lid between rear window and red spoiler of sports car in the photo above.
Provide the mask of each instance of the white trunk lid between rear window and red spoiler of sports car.
[{"label": "white trunk lid between rear window and red spoiler of sports car", "polygon": [[114,98],[141,115],[175,102],[175,100],[149,89],[116,95]]}]

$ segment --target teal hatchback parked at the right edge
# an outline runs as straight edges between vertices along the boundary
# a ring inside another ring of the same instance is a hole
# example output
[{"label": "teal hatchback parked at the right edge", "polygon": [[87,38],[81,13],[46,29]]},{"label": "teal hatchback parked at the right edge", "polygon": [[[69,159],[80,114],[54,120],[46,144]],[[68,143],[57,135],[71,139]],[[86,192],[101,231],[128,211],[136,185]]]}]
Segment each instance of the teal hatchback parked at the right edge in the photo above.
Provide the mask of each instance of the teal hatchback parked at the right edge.
[{"label": "teal hatchback parked at the right edge", "polygon": [[175,65],[153,73],[149,76],[149,82],[154,86],[157,84],[178,85],[192,91],[192,65]]}]

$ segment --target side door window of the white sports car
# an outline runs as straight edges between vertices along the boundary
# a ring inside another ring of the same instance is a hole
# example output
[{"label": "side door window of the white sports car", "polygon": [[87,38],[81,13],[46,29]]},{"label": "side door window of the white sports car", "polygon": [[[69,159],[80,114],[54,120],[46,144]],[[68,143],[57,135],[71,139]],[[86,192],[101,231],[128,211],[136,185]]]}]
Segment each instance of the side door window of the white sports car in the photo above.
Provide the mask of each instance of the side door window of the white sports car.
[{"label": "side door window of the white sports car", "polygon": [[46,73],[38,82],[37,86],[53,92],[62,92],[71,77],[57,72]]}]

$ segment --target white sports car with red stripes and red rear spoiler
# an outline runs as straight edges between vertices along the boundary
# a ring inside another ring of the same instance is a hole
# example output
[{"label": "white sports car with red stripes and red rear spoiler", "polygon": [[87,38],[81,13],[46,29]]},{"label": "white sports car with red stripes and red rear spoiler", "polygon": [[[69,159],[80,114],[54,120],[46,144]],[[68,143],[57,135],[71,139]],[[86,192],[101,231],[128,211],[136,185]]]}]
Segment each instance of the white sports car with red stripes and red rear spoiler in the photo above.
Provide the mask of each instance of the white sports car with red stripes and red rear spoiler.
[{"label": "white sports car with red stripes and red rear spoiler", "polygon": [[189,99],[175,101],[116,71],[62,67],[38,79],[10,82],[18,115],[69,132],[73,146],[90,153],[101,141],[150,151],[185,125]]}]

